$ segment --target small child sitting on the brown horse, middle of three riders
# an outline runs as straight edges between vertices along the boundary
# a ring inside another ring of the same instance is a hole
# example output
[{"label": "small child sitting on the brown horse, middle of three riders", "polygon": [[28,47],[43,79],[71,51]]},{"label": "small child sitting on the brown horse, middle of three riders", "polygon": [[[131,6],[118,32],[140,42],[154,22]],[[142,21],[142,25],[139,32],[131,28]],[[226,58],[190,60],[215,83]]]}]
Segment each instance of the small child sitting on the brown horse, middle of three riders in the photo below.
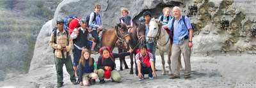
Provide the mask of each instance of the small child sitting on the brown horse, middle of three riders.
[{"label": "small child sitting on the brown horse, middle of three riders", "polygon": [[127,8],[122,8],[121,10],[122,17],[119,18],[120,23],[125,23],[128,28],[128,32],[132,33],[132,18],[128,15],[129,11]]}]

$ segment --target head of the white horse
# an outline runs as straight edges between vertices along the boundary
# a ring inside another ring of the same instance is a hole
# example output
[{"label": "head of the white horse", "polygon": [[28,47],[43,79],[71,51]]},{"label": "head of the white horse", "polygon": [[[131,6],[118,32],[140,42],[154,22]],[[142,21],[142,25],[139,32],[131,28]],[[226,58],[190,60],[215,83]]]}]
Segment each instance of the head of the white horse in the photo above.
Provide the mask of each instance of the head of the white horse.
[{"label": "head of the white horse", "polygon": [[149,31],[147,34],[147,38],[156,38],[157,36],[159,36],[160,30],[161,23],[157,19],[152,18],[149,22]]}]

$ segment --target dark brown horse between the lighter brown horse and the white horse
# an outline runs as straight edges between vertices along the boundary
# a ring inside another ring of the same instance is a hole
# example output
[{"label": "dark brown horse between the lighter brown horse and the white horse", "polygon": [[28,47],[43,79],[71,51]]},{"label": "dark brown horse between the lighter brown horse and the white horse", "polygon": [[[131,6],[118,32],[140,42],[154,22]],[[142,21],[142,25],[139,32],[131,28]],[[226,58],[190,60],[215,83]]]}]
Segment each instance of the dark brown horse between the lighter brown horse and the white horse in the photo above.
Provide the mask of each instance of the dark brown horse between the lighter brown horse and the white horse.
[{"label": "dark brown horse between the lighter brown horse and the white horse", "polygon": [[[132,27],[132,33],[129,33],[129,36],[130,36],[131,39],[129,40],[128,47],[130,49],[134,50],[133,54],[130,55],[131,70],[130,70],[129,74],[133,74],[133,64],[134,64],[133,59],[136,55],[136,50],[138,49],[138,47],[141,43],[145,43],[145,41],[146,41],[146,38],[145,38],[145,24],[142,24],[140,22],[134,22],[133,27]],[[124,62],[125,69],[128,68],[124,58],[120,59],[120,61]],[[120,64],[122,64],[122,63],[120,63]],[[136,62],[135,62],[135,66],[136,66]],[[120,65],[120,70],[122,70],[122,65]]]}]

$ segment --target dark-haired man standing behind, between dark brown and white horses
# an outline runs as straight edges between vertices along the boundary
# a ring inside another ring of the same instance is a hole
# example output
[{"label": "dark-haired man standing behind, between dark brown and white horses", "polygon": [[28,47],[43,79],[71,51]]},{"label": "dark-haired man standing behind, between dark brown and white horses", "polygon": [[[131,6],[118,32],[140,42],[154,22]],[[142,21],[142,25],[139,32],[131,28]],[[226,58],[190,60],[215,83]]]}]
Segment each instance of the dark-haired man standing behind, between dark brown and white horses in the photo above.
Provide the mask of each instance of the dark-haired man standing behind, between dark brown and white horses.
[{"label": "dark-haired man standing behind, between dark brown and white horses", "polygon": [[[154,58],[154,68],[155,68],[155,64],[156,64],[156,45],[154,43],[154,40],[148,40],[149,38],[147,38],[147,34],[149,31],[149,22],[151,19],[151,13],[150,11],[145,11],[143,13],[143,17],[145,19],[145,36],[146,36],[146,41],[147,41],[147,48],[150,50],[150,52],[153,54],[153,58]],[[156,69],[155,69],[156,70]]]}]

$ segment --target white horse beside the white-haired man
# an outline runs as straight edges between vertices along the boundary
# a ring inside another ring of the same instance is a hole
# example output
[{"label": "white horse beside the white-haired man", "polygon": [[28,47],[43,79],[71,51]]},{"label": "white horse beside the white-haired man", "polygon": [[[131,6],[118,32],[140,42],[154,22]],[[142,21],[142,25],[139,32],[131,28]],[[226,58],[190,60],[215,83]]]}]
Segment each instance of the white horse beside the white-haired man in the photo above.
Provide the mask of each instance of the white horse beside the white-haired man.
[{"label": "white horse beside the white-haired man", "polygon": [[[156,20],[155,18],[152,18],[149,22],[149,31],[147,34],[147,38],[154,39],[157,41],[157,48],[159,50],[159,54],[161,55],[162,59],[162,66],[163,66],[163,71],[162,74],[166,74],[166,70],[164,68],[164,52],[168,53],[168,64],[169,64],[169,75],[172,74],[172,69],[171,69],[171,55],[172,55],[172,43],[170,42],[171,39],[169,37],[169,34],[165,31],[165,29],[162,28],[162,24]],[[181,66],[181,61],[179,58],[179,66]]]}]

